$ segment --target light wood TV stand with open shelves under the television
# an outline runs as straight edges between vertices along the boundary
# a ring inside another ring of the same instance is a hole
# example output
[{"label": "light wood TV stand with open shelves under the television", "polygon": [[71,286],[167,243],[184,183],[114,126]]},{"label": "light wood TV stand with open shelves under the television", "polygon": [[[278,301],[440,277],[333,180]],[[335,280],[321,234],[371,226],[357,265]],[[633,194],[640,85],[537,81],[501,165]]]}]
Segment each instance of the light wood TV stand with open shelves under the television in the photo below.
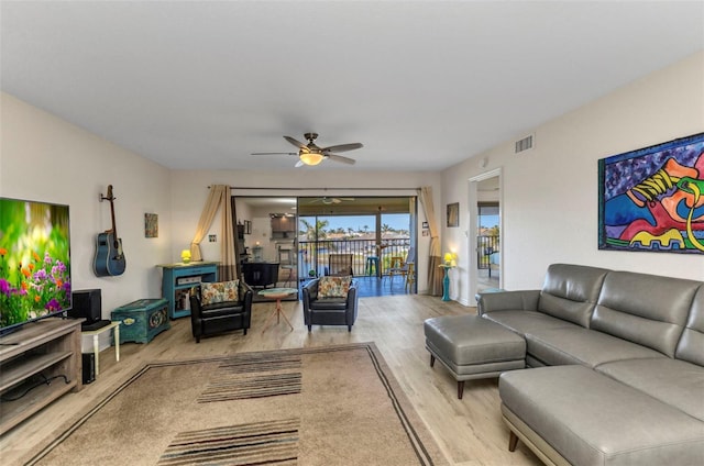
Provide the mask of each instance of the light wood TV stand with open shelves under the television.
[{"label": "light wood TV stand with open shelves under the television", "polygon": [[82,389],[81,322],[48,318],[0,337],[0,435],[64,393]]}]

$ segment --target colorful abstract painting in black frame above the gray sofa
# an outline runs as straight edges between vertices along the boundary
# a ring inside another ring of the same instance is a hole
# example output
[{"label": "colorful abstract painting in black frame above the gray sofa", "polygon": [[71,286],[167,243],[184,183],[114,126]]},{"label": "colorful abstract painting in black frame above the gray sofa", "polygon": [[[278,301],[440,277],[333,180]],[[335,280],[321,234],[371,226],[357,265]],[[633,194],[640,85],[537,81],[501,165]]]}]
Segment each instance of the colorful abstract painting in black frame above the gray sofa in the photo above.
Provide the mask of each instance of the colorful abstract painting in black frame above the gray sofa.
[{"label": "colorful abstract painting in black frame above the gray sofa", "polygon": [[598,160],[598,247],[704,254],[704,133]]}]

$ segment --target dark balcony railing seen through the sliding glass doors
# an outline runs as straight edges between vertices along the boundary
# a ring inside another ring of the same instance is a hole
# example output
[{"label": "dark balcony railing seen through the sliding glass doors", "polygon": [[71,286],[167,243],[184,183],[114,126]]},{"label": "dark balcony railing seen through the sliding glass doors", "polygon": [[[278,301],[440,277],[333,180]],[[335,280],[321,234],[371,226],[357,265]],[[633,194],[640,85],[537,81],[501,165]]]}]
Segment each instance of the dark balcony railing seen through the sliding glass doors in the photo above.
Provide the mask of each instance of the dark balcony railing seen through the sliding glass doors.
[{"label": "dark balcony railing seen through the sliding glass doors", "polygon": [[[322,276],[328,267],[330,254],[352,254],[352,271],[355,276],[367,274],[367,260],[370,256],[377,256],[382,275],[387,275],[392,257],[402,257],[404,260],[410,247],[410,238],[385,238],[381,242],[381,254],[377,253],[374,240],[319,240],[298,242],[298,263],[302,275]],[[372,274],[375,274],[372,270]]]}]

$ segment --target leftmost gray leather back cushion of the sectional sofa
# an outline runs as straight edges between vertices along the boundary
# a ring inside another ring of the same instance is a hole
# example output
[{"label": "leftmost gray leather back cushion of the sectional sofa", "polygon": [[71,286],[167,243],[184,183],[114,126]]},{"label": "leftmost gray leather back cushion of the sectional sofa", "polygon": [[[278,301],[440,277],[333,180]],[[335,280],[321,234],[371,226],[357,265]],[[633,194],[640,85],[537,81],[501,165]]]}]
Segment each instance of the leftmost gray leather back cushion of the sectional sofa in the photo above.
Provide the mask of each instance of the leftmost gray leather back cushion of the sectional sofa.
[{"label": "leftmost gray leather back cushion of the sectional sofa", "polygon": [[588,328],[607,273],[605,268],[552,264],[540,291],[538,310]]}]

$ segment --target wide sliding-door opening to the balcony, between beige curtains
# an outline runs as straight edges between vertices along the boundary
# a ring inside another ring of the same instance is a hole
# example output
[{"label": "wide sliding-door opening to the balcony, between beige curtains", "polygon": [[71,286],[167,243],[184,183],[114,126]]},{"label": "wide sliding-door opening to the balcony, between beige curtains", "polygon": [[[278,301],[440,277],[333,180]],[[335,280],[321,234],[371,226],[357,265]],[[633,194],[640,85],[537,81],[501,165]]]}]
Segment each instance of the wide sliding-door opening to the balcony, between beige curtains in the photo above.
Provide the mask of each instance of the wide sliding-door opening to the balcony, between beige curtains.
[{"label": "wide sliding-door opening to the balcony, between beige curtains", "polygon": [[[415,249],[415,197],[233,197],[240,245],[245,263],[277,263],[276,286],[299,286],[326,275],[329,256],[352,254],[360,296],[404,292],[405,282],[388,279],[392,258]],[[376,246],[383,246],[380,249]],[[367,267],[367,258],[378,256]],[[414,264],[415,265],[415,264]],[[414,268],[413,287],[416,291]],[[385,279],[383,280],[382,277]],[[295,285],[294,285],[295,284]]]}]

